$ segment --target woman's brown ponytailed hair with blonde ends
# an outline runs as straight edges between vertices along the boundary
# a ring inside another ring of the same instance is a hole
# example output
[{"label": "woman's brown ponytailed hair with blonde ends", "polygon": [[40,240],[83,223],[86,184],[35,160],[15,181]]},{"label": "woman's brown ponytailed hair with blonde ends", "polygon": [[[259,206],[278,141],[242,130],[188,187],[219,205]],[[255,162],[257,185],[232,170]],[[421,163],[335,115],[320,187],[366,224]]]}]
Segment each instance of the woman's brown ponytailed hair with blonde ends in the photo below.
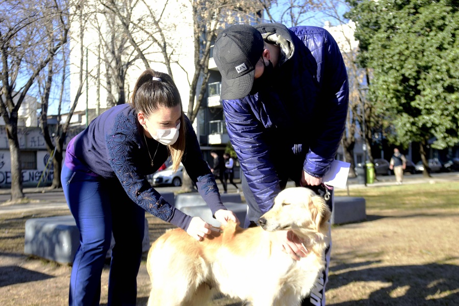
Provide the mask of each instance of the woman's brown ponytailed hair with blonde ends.
[{"label": "woman's brown ponytailed hair with blonde ends", "polygon": [[170,75],[152,69],[142,72],[137,79],[129,103],[137,113],[142,112],[145,116],[149,116],[163,107],[173,108],[180,105],[182,116],[180,117],[179,138],[174,144],[167,146],[172,160],[172,169],[177,171],[185,151],[187,124],[179,90]]}]

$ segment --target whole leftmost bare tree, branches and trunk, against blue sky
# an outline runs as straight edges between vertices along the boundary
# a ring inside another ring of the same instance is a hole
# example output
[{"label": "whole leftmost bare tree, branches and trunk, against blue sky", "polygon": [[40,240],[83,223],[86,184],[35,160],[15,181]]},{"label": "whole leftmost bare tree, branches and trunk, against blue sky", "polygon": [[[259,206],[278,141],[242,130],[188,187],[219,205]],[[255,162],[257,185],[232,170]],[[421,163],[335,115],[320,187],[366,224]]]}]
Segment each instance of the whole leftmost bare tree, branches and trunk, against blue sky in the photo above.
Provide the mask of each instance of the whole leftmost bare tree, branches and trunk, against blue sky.
[{"label": "whole leftmost bare tree, branches and trunk, against blue sky", "polygon": [[[65,0],[2,1],[0,6],[0,114],[11,154],[11,200],[24,198],[18,110],[40,71],[67,42],[68,11]],[[43,24],[47,27],[40,26]]]}]

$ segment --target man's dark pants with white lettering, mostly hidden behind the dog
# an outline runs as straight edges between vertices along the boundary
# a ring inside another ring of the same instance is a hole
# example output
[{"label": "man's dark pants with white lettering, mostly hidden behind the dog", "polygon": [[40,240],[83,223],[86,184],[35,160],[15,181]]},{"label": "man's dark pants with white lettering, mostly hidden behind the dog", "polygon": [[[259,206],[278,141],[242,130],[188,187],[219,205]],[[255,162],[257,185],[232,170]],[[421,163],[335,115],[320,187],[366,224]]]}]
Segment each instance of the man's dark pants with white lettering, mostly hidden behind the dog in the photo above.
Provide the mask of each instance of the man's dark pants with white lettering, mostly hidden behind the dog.
[{"label": "man's dark pants with white lettering, mostly hidden behind the dog", "polygon": [[[258,207],[257,201],[253,196],[250,187],[248,186],[245,175],[241,177],[242,191],[244,192],[244,197],[247,202],[248,210],[245,217],[244,226],[256,226],[258,219],[263,215],[260,208]],[[281,189],[285,189],[287,186],[287,179],[281,180]],[[297,184],[298,186],[298,184]],[[308,186],[307,188],[313,190],[316,194],[320,196],[325,195],[325,187],[323,186]],[[326,201],[330,211],[333,209],[333,190],[330,190],[330,198]],[[330,233],[329,233],[330,234]],[[316,280],[316,285],[312,289],[310,296],[305,297],[301,301],[301,306],[325,306],[325,286],[328,282],[328,266],[330,265],[330,253],[331,253],[331,235],[330,245],[325,250],[325,269],[322,274],[319,274],[319,277]]]}]

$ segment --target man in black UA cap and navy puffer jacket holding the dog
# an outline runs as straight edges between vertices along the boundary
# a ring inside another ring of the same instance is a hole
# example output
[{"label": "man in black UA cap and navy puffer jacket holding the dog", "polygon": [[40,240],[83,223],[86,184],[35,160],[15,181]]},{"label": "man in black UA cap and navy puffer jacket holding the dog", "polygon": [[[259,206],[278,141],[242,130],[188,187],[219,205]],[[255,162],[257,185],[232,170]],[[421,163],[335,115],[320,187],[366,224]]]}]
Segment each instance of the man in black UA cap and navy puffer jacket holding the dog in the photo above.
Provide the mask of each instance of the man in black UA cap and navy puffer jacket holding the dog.
[{"label": "man in black UA cap and navy puffer jacket holding the dog", "polygon": [[[219,34],[214,60],[222,74],[226,127],[244,172],[246,226],[268,211],[289,179],[329,198],[322,177],[335,159],[348,108],[348,80],[339,47],[322,28],[280,23],[236,24]],[[299,260],[297,237],[281,231]],[[325,305],[329,261],[302,305]]]}]

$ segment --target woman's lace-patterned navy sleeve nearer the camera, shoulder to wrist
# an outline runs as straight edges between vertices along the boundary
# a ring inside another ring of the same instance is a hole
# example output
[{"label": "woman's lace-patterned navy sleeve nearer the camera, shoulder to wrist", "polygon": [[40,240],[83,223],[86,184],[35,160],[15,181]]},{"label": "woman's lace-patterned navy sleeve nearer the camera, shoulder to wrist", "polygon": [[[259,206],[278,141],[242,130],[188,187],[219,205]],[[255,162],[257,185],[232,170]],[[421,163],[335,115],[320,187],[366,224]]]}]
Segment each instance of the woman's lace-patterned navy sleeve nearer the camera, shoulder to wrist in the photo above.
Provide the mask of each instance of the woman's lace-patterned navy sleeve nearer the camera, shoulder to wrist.
[{"label": "woman's lace-patterned navy sleeve nearer the camera, shoulder to wrist", "polygon": [[112,134],[106,135],[109,163],[127,195],[150,214],[170,222],[174,208],[151,188],[143,175],[138,174],[135,153],[140,147],[136,143],[135,119],[119,114],[115,118]]}]

